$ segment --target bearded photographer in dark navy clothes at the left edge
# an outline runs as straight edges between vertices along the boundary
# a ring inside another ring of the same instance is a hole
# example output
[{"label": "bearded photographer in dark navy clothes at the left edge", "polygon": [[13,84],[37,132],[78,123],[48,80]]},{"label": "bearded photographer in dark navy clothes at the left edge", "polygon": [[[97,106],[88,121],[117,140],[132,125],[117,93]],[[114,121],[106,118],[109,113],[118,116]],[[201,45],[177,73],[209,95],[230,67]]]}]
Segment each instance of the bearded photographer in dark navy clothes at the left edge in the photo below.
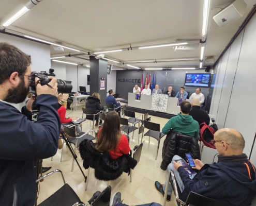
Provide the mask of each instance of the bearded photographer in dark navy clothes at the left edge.
[{"label": "bearded photographer in dark navy clothes at the left edge", "polygon": [[[13,45],[0,43],[0,205],[34,205],[34,162],[54,156],[58,148],[61,122],[55,78],[50,77],[52,88],[37,84],[37,123],[8,104],[26,98],[30,64],[30,56]],[[31,113],[31,103],[22,109],[23,113]]]}]

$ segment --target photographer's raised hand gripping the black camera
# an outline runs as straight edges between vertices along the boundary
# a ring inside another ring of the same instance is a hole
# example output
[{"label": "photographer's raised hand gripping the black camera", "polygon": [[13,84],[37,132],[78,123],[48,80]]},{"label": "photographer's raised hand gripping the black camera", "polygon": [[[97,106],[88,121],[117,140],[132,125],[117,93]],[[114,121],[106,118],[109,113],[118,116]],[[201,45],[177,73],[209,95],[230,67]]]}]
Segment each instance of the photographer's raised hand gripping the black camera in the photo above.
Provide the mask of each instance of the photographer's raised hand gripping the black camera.
[{"label": "photographer's raised hand gripping the black camera", "polygon": [[[36,93],[37,96],[39,96],[40,94],[52,94],[54,96],[57,96],[58,92],[58,88],[57,88],[57,79],[54,77],[49,77],[51,79],[51,81],[48,83],[52,88],[48,87],[48,85],[41,85],[40,83],[38,83],[36,85]],[[35,78],[35,81],[37,82],[39,80],[39,78]]]}]

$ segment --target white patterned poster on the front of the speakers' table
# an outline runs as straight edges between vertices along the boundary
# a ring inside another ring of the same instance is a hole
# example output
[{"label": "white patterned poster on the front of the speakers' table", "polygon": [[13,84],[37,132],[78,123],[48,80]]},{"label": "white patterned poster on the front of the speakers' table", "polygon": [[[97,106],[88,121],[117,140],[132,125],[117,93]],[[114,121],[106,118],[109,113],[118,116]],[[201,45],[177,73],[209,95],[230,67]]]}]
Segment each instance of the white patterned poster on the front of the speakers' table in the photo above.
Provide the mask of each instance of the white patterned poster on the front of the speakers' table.
[{"label": "white patterned poster on the front of the speakers' table", "polygon": [[168,95],[152,94],[151,110],[157,112],[167,112]]}]

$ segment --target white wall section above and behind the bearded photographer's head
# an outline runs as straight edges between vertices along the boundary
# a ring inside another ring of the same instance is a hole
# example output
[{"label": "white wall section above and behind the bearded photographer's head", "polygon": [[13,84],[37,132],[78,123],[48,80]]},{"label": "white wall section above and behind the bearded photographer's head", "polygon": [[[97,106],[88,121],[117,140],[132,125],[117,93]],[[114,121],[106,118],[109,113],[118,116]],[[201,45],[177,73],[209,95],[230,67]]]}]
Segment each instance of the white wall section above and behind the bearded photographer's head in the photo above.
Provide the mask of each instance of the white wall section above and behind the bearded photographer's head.
[{"label": "white wall section above and behind the bearded photographer's head", "polygon": [[22,52],[31,56],[32,60],[32,71],[41,72],[49,71],[51,68],[50,61],[50,45],[34,42],[31,40],[26,40],[23,38],[6,35],[0,33],[0,42],[8,42],[14,46],[17,46]]}]

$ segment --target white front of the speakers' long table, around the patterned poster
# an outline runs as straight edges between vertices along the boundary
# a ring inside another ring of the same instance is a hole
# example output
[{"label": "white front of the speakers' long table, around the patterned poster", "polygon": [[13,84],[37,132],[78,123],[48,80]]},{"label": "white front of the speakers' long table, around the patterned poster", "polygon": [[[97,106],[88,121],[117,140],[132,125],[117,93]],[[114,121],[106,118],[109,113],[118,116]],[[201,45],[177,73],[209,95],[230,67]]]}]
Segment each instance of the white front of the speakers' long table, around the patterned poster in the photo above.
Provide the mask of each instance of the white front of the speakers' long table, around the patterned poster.
[{"label": "white front of the speakers' long table, around the patterned poster", "polygon": [[[164,95],[167,96],[168,95]],[[186,101],[191,102],[190,99],[186,99]],[[168,103],[167,103],[167,112],[168,114],[173,114],[177,115],[180,112],[180,107],[178,105],[178,98],[175,97],[168,97]],[[128,107],[134,107],[134,108],[139,108],[139,109],[144,109],[144,110],[152,110],[152,95],[141,95],[140,100],[135,99],[135,94],[134,93],[129,93],[128,94]]]}]

